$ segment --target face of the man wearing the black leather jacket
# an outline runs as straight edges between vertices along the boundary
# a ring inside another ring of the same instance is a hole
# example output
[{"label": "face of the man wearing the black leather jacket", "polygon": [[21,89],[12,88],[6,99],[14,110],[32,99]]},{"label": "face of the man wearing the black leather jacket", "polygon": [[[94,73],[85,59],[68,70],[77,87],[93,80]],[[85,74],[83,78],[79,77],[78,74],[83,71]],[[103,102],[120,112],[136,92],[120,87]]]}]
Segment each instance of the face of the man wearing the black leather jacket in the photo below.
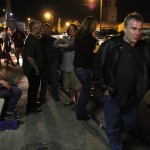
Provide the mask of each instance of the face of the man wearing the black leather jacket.
[{"label": "face of the man wearing the black leather jacket", "polygon": [[124,28],[124,39],[134,45],[141,37],[143,22],[131,19]]}]

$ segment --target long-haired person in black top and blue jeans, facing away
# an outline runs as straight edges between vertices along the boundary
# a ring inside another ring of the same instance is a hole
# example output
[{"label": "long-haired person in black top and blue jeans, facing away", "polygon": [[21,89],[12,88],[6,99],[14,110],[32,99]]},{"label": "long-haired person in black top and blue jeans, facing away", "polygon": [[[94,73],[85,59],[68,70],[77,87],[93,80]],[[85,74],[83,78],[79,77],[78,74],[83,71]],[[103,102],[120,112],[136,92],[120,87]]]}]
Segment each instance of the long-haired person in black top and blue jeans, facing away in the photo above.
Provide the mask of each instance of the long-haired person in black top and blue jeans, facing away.
[{"label": "long-haired person in black top and blue jeans, facing away", "polygon": [[82,84],[76,114],[78,120],[88,120],[86,105],[90,98],[91,69],[93,64],[94,49],[97,39],[95,38],[96,19],[88,16],[84,19],[74,41],[75,58],[74,67]]}]

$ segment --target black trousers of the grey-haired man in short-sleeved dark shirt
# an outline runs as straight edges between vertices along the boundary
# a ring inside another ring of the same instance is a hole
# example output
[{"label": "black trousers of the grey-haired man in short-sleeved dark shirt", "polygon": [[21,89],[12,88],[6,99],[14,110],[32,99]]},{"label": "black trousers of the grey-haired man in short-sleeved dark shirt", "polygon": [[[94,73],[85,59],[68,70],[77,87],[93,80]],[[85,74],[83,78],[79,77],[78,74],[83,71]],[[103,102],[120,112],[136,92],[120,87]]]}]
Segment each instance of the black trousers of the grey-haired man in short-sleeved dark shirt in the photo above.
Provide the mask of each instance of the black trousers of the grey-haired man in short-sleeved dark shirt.
[{"label": "black trousers of the grey-haired man in short-sleeved dark shirt", "polygon": [[28,99],[26,109],[33,109],[37,106],[38,89],[40,85],[40,76],[32,74],[27,76],[28,79]]}]

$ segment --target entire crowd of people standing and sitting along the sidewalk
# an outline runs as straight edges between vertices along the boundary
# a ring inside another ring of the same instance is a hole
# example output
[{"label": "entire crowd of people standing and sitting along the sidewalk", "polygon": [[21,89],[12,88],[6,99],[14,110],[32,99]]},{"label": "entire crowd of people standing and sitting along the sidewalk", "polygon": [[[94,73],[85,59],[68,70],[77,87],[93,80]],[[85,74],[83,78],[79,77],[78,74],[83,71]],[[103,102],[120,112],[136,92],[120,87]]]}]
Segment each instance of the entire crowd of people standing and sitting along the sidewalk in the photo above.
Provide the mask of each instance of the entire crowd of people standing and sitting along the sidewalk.
[{"label": "entire crowd of people standing and sitting along the sidewalk", "polygon": [[[87,16],[80,28],[70,24],[68,35],[62,39],[52,37],[50,24],[42,25],[37,20],[29,24],[28,36],[16,28],[11,35],[15,45],[16,65],[20,64],[21,53],[22,68],[29,85],[27,113],[41,112],[40,106],[47,101],[48,84],[51,86],[52,98],[60,101],[57,84],[60,69],[63,74],[62,88],[70,91],[71,98],[65,105],[72,105],[77,120],[89,120],[91,115],[87,113],[86,106],[90,99],[91,82],[96,81],[103,93],[106,133],[110,147],[112,150],[122,150],[122,132],[137,125],[139,102],[149,89],[150,46],[140,40],[143,18],[134,12],[124,19],[124,31],[102,43],[95,55],[94,49],[98,42],[96,26],[96,19]],[[41,32],[43,34],[39,36]],[[4,49],[9,56],[7,60],[11,61],[10,35],[7,29],[4,33]],[[9,93],[6,109],[9,115],[21,97],[21,90],[4,80],[0,80],[0,83],[5,87],[0,91],[0,96],[4,96],[5,92]]]}]

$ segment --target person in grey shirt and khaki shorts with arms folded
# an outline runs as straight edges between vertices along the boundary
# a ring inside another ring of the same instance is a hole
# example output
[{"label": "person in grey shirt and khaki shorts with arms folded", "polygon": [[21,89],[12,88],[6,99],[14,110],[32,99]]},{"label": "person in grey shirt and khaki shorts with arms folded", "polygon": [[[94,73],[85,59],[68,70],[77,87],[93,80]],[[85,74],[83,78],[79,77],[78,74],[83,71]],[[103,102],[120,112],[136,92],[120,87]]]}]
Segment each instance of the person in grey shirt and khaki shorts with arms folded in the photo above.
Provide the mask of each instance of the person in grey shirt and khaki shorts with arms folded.
[{"label": "person in grey shirt and khaki shorts with arms folded", "polygon": [[71,101],[68,101],[65,105],[73,105],[74,107],[77,104],[81,84],[74,72],[74,39],[77,33],[78,27],[75,24],[70,24],[67,33],[68,36],[64,37],[65,47],[63,47],[63,59],[61,69],[63,71],[63,88],[70,90]]}]

